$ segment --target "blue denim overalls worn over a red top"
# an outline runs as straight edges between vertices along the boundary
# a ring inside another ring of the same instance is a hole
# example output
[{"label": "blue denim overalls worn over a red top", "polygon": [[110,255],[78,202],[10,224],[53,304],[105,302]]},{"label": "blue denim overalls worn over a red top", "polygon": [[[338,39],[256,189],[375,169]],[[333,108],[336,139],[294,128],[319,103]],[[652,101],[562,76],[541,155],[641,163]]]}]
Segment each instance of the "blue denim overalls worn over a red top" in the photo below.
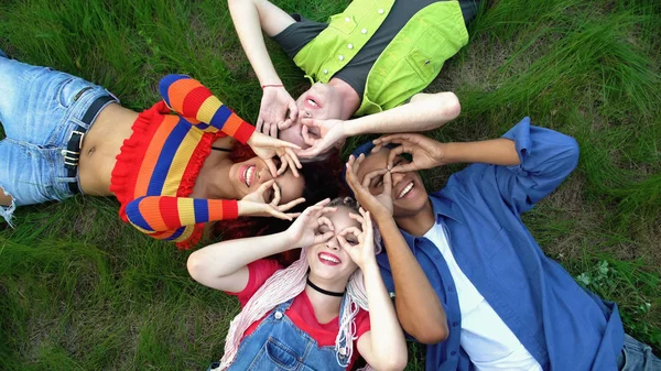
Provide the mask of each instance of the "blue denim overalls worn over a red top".
[{"label": "blue denim overalls worn over a red top", "polygon": [[[228,371],[346,370],[337,363],[335,346],[319,348],[316,340],[284,314],[292,302],[277,306],[250,336],[243,338]],[[339,358],[348,363],[346,356]],[[209,370],[218,365],[219,362],[214,362]]]}]

